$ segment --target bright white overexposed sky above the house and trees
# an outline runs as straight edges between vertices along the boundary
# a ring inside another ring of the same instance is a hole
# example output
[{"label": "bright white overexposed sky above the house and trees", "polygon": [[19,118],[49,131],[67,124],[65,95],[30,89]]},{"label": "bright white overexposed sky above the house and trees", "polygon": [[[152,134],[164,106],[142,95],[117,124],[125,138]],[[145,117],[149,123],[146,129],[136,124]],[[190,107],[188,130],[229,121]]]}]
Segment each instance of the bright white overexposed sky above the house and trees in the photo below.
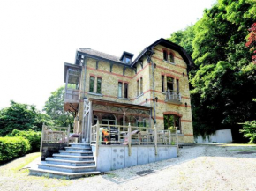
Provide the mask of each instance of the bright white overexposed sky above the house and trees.
[{"label": "bright white overexposed sky above the house and trees", "polygon": [[77,48],[121,56],[196,23],[215,0],[1,0],[0,109],[41,110]]}]

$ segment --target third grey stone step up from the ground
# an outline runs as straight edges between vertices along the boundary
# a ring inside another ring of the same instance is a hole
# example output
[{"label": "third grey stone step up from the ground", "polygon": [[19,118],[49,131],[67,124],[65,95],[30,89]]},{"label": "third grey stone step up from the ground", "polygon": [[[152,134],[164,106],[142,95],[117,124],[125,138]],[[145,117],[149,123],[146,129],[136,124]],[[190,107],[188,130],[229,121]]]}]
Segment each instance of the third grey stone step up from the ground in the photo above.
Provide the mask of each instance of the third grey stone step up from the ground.
[{"label": "third grey stone step up from the ground", "polygon": [[72,165],[72,166],[85,166],[95,165],[94,160],[75,161],[75,160],[62,160],[55,158],[45,158],[46,163],[53,165]]}]

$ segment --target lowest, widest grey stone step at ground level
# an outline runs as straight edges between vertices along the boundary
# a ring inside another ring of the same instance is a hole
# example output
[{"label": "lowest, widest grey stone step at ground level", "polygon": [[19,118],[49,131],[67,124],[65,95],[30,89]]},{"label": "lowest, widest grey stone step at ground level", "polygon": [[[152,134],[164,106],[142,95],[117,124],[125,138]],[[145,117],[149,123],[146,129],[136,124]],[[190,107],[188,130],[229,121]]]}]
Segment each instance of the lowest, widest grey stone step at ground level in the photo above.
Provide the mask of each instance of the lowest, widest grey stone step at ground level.
[{"label": "lowest, widest grey stone step at ground level", "polygon": [[38,168],[31,168],[29,169],[29,175],[36,175],[36,176],[46,176],[50,178],[58,178],[58,179],[75,179],[79,177],[90,176],[94,174],[99,174],[101,172],[94,171],[94,172],[84,172],[84,173],[66,173],[66,172],[59,172],[59,171],[50,171]]}]

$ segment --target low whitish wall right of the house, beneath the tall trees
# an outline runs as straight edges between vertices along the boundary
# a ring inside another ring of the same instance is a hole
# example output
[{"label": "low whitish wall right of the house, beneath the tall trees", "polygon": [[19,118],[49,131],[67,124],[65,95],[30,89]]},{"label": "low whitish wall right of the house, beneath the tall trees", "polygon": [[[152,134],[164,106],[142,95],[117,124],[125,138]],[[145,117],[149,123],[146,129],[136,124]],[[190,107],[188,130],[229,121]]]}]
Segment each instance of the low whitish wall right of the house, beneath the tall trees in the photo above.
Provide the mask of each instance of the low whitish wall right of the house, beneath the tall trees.
[{"label": "low whitish wall right of the house, beneath the tall trees", "polygon": [[194,138],[195,143],[232,143],[231,129],[216,130],[215,134],[206,136],[204,139],[202,136]]}]

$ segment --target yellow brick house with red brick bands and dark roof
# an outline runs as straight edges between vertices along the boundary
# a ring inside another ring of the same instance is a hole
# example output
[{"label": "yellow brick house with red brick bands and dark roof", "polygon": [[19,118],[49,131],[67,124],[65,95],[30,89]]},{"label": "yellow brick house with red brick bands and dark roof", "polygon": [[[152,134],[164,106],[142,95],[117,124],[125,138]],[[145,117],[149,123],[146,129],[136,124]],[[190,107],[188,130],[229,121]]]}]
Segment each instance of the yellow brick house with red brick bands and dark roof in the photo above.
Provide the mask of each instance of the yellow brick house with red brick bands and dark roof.
[{"label": "yellow brick house with red brick bands and dark roof", "polygon": [[[151,48],[154,54],[148,61],[145,54]],[[179,142],[193,143],[190,56],[177,44],[160,39],[132,59],[128,52],[117,57],[79,48],[75,64],[64,63],[64,110],[76,116],[75,132],[86,133],[87,126],[97,120],[152,128],[155,123],[159,129],[177,127]],[[85,116],[84,99],[92,102]],[[135,110],[126,108],[129,105]],[[89,139],[87,135],[84,138]]]}]

